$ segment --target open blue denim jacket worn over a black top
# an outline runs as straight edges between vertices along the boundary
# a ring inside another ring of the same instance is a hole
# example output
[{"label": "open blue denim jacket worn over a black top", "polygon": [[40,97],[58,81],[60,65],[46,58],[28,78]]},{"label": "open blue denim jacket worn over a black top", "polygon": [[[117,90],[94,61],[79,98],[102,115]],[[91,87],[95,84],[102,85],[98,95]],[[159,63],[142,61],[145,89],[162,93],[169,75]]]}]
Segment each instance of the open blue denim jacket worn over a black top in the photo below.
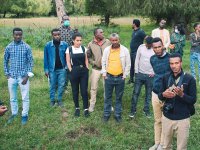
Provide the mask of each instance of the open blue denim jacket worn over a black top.
[{"label": "open blue denim jacket worn over a black top", "polygon": [[[67,69],[66,65],[66,55],[65,51],[67,49],[68,45],[64,41],[60,41],[59,45],[59,56],[60,61],[62,63],[62,67]],[[56,61],[56,52],[55,52],[55,45],[53,44],[53,41],[47,42],[47,44],[44,47],[44,72],[53,72],[55,69],[55,61]]]}]

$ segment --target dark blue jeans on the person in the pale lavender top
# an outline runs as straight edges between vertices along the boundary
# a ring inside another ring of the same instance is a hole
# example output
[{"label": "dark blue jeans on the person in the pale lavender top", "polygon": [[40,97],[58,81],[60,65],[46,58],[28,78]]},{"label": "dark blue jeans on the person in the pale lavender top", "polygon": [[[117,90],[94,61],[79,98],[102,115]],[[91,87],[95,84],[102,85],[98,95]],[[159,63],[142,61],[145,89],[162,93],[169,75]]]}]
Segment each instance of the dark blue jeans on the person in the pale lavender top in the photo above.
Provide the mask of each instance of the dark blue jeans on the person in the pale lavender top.
[{"label": "dark blue jeans on the person in the pale lavender top", "polygon": [[145,112],[149,112],[151,92],[153,87],[153,77],[149,77],[148,74],[137,73],[135,74],[135,84],[132,96],[132,104],[131,104],[132,113],[136,112],[138,97],[140,95],[142,85],[145,85],[145,103],[143,110]]}]

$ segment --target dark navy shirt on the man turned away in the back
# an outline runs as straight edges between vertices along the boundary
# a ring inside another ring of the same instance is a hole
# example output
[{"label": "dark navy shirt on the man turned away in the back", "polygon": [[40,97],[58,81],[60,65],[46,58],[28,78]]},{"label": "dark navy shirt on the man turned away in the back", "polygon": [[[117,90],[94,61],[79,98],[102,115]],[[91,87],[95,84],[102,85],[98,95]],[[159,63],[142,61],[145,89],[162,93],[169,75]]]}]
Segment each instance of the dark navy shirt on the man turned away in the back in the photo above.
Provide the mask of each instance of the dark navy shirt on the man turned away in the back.
[{"label": "dark navy shirt on the man turned away in the back", "polygon": [[132,33],[132,39],[131,39],[131,54],[136,55],[138,47],[143,44],[144,38],[146,37],[145,32],[138,28],[137,30],[134,30]]}]

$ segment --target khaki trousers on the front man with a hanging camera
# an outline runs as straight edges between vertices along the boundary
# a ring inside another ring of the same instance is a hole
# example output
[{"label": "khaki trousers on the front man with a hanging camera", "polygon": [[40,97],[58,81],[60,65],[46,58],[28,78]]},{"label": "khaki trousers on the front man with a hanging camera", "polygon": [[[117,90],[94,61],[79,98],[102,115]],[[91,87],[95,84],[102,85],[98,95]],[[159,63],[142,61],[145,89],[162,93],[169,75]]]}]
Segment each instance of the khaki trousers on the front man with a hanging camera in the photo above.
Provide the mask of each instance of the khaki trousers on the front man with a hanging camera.
[{"label": "khaki trousers on the front man with a hanging camera", "polygon": [[189,137],[190,118],[182,120],[170,120],[163,115],[163,150],[172,150],[173,135],[177,137],[177,150],[187,150]]}]

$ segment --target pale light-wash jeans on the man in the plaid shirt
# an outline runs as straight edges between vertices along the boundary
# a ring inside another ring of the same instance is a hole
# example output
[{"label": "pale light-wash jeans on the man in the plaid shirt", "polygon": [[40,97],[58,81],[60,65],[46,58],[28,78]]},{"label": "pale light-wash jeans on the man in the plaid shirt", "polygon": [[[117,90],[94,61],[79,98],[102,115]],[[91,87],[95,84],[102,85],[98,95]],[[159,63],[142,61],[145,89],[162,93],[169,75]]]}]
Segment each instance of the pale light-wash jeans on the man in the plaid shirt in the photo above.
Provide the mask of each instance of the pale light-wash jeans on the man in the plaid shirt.
[{"label": "pale light-wash jeans on the man in the plaid shirt", "polygon": [[8,79],[8,90],[10,94],[10,106],[12,115],[18,114],[17,87],[19,85],[22,96],[22,116],[28,116],[29,111],[29,80],[25,85],[22,85],[23,78]]}]

